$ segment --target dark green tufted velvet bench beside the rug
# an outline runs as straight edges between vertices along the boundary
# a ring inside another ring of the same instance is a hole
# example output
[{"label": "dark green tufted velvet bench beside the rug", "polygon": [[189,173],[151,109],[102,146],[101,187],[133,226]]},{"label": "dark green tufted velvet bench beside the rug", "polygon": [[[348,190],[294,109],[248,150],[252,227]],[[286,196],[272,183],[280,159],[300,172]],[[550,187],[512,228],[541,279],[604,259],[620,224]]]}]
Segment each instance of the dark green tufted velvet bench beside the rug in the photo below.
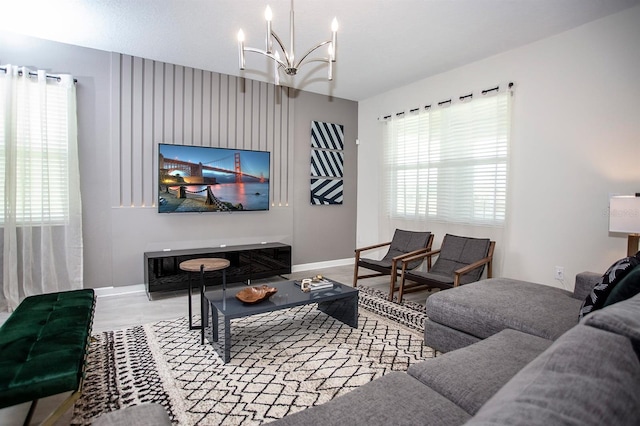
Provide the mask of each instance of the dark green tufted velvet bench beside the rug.
[{"label": "dark green tufted velvet bench beside the rug", "polygon": [[82,392],[91,340],[91,289],[27,297],[0,327],[0,408],[72,392],[43,424],[52,424]]}]

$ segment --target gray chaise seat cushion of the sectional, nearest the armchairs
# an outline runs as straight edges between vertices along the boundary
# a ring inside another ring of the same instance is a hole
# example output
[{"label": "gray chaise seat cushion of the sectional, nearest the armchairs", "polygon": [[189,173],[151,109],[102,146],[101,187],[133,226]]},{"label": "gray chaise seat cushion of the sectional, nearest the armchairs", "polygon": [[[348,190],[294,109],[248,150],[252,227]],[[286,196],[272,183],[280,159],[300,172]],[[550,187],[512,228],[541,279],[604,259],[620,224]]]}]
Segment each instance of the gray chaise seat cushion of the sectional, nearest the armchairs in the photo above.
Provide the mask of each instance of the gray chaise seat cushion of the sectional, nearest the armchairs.
[{"label": "gray chaise seat cushion of the sectional, nearest the armchairs", "polygon": [[555,340],[578,323],[581,303],[556,287],[491,278],[432,294],[426,312],[431,321],[481,339],[511,328]]}]

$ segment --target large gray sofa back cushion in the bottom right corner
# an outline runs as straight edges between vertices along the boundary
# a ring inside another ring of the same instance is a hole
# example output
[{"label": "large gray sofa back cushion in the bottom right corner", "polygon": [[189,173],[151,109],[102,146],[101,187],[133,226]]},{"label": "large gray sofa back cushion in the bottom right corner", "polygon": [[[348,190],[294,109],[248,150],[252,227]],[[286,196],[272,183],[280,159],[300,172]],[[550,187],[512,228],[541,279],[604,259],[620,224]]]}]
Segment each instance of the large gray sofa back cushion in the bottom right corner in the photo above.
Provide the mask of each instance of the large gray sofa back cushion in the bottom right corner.
[{"label": "large gray sofa back cushion in the bottom right corner", "polygon": [[[637,314],[636,314],[637,315]],[[523,368],[468,425],[637,425],[640,363],[629,339],[580,324]]]}]

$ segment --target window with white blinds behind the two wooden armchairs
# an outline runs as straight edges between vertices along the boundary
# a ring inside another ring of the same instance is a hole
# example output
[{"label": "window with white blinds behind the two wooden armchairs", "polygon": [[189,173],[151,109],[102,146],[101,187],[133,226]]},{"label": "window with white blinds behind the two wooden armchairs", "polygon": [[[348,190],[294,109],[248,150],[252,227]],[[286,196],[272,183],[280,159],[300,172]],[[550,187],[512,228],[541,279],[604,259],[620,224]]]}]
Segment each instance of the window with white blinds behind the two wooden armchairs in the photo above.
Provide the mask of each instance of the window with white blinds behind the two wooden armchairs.
[{"label": "window with white blinds behind the two wooden armchairs", "polygon": [[385,123],[387,214],[501,226],[511,92],[401,114]]}]

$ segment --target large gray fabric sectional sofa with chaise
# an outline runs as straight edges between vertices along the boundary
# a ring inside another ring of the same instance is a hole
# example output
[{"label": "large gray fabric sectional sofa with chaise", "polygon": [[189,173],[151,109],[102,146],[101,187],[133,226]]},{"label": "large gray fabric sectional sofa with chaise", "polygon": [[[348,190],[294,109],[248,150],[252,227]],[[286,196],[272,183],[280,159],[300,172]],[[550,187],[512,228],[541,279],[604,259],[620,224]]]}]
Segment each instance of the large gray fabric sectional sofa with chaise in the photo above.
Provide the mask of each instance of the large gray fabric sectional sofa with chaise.
[{"label": "large gray fabric sectional sofa with chaise", "polygon": [[579,311],[573,293],[493,279],[429,297],[425,344],[446,352],[277,425],[637,425],[640,295]]}]

